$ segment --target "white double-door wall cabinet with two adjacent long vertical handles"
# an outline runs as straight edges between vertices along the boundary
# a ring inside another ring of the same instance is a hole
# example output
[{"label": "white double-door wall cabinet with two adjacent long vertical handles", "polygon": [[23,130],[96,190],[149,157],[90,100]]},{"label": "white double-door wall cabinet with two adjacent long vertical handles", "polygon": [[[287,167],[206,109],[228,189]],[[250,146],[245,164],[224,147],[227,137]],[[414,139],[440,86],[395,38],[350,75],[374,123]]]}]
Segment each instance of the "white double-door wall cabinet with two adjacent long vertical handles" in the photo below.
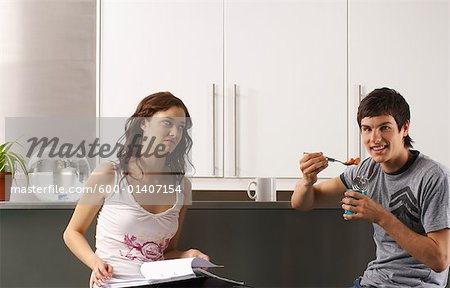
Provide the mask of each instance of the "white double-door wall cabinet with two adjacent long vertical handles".
[{"label": "white double-door wall cabinet with two adjacent long vertical handles", "polygon": [[347,158],[346,1],[101,3],[101,116],[173,92],[195,176],[298,178],[303,152]]}]

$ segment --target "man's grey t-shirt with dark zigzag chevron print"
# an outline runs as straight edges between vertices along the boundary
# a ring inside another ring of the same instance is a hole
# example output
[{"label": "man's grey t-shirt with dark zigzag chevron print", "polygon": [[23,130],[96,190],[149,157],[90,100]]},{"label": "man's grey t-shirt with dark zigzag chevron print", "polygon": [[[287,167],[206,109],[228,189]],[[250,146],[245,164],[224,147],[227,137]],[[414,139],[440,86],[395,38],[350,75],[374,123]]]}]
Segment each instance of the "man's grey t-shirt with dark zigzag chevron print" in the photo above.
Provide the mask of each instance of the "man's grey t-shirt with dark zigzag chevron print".
[{"label": "man's grey t-shirt with dark zigzag chevron print", "polygon": [[[413,156],[400,171],[385,173],[371,158],[341,174],[350,189],[356,176],[369,178],[367,195],[420,235],[450,228],[450,174],[447,168],[411,150]],[[447,270],[436,273],[403,250],[384,229],[373,224],[376,259],[361,279],[375,287],[445,287]]]}]

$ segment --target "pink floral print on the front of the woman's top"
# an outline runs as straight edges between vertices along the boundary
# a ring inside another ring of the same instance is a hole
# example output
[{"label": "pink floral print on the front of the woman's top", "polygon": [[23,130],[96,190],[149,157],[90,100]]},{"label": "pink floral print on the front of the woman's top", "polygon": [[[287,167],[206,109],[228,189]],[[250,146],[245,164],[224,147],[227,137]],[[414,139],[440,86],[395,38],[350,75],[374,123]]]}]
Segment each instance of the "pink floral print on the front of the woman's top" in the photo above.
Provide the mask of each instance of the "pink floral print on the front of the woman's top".
[{"label": "pink floral print on the front of the woman's top", "polygon": [[158,242],[146,241],[140,243],[136,236],[125,234],[124,244],[128,251],[119,251],[121,256],[133,261],[159,261],[164,260],[164,250],[169,246],[170,238],[163,238]]}]

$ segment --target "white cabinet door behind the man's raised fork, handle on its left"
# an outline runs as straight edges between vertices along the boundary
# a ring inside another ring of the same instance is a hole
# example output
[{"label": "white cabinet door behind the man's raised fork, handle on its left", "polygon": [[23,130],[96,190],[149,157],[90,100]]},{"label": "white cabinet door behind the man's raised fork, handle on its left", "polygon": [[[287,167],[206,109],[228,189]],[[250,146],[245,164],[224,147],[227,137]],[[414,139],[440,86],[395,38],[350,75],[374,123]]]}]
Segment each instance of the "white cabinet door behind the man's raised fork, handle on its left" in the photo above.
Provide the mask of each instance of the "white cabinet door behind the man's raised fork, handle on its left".
[{"label": "white cabinet door behind the man's raised fork, handle on its left", "polygon": [[[346,1],[224,7],[226,174],[298,177],[312,151],[347,159]],[[338,165],[320,176],[337,176]]]}]

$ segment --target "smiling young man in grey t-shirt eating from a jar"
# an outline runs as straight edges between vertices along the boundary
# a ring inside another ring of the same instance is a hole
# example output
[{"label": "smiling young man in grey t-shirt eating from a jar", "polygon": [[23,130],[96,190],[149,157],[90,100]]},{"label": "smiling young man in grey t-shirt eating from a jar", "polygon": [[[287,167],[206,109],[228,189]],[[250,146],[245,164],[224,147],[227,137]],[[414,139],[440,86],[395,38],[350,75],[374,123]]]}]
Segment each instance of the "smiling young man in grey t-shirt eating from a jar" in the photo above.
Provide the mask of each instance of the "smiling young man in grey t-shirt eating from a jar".
[{"label": "smiling young man in grey t-shirt eating from a jar", "polygon": [[[305,154],[292,207],[306,211],[341,203],[353,212],[343,215],[346,220],[373,223],[376,259],[354,287],[445,287],[450,263],[448,169],[410,149],[409,106],[395,90],[372,91],[361,101],[357,119],[371,157],[340,177],[316,183],[327,158]],[[367,196],[350,190],[356,176],[368,177]]]}]

